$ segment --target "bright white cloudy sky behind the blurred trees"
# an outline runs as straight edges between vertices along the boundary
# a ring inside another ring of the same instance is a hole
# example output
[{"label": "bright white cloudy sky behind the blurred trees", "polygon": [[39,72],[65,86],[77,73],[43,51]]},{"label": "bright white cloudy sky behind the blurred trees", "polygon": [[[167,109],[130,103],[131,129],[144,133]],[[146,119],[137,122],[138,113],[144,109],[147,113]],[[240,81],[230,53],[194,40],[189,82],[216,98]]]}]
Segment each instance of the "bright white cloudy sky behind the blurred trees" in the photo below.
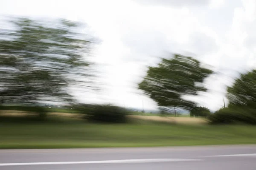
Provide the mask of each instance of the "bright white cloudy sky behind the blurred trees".
[{"label": "bright white cloudy sky behind the blurred trees", "polygon": [[234,78],[256,65],[256,0],[1,0],[0,16],[9,15],[84,22],[102,40],[93,59],[104,91],[74,91],[83,102],[157,108],[137,83],[159,57],[179,53],[215,71],[208,92],[186,96],[215,111]]}]

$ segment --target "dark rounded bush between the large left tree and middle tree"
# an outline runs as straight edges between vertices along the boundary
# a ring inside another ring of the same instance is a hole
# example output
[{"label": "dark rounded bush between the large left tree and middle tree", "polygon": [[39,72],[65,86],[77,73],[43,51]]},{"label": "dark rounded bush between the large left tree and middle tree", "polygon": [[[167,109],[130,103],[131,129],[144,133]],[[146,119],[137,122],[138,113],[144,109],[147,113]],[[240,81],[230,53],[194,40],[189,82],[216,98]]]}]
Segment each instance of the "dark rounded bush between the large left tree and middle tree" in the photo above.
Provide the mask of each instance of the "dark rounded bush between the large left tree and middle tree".
[{"label": "dark rounded bush between the large left tree and middle tree", "polygon": [[122,123],[126,122],[125,109],[112,105],[95,105],[90,110],[88,119],[95,122]]}]

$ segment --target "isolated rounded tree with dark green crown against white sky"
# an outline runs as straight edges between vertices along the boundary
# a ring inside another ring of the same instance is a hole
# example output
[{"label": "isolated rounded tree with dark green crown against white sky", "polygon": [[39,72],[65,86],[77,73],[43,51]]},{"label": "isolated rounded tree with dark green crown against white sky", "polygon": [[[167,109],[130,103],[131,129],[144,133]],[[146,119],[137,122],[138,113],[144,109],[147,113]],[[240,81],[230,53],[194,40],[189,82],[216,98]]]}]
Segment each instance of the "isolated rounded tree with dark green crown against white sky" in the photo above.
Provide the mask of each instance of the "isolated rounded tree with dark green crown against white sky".
[{"label": "isolated rounded tree with dark green crown against white sky", "polygon": [[206,91],[202,82],[209,74],[212,71],[202,68],[198,60],[176,54],[172,59],[162,59],[158,67],[149,67],[146,77],[139,83],[139,89],[159,106],[191,110],[195,103],[182,96]]}]

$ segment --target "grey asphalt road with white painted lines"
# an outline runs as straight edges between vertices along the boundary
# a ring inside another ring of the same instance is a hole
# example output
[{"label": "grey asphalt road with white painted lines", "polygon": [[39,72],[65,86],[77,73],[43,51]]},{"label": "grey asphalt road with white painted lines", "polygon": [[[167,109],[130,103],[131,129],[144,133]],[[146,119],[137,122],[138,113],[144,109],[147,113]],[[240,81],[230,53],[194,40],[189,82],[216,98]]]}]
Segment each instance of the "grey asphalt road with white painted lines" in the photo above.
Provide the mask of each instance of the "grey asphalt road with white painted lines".
[{"label": "grey asphalt road with white painted lines", "polygon": [[256,145],[0,150],[0,170],[256,170]]}]

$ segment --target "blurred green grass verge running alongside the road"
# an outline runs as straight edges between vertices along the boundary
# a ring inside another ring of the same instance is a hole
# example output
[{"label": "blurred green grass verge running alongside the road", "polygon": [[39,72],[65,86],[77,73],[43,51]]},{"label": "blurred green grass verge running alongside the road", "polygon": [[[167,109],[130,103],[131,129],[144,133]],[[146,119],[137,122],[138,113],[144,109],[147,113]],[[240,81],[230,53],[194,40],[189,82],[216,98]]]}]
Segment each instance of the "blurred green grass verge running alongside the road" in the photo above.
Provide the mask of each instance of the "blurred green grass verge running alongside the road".
[{"label": "blurred green grass verge running alongside the road", "polygon": [[58,116],[51,116],[45,122],[32,118],[0,117],[0,148],[255,144],[255,131],[256,126],[175,125],[141,119],[113,125]]}]

